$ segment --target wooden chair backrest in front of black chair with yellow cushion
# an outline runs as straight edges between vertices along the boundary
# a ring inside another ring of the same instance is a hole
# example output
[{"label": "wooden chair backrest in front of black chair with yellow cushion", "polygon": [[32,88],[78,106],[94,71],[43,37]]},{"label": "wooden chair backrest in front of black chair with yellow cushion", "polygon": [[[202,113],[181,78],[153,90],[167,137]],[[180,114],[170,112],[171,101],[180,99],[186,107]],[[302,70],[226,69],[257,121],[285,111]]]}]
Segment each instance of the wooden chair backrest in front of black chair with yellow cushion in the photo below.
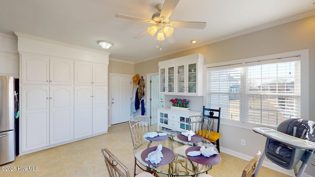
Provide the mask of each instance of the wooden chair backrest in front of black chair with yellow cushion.
[{"label": "wooden chair backrest in front of black chair with yellow cushion", "polygon": [[212,127],[212,120],[203,116],[190,116],[189,128],[196,134],[204,138],[210,137],[210,131]]}]

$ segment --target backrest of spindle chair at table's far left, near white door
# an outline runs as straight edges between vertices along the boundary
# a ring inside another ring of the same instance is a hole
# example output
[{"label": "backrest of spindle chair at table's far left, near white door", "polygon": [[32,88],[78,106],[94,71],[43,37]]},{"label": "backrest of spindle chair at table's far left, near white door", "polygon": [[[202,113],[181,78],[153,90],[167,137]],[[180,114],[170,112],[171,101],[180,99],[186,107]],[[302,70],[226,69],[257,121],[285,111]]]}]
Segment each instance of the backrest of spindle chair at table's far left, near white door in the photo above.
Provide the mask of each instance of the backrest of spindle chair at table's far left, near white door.
[{"label": "backrest of spindle chair at table's far left, near white door", "polygon": [[143,139],[143,135],[150,132],[149,117],[147,116],[136,116],[129,120],[130,134],[132,139],[133,148],[148,143]]}]

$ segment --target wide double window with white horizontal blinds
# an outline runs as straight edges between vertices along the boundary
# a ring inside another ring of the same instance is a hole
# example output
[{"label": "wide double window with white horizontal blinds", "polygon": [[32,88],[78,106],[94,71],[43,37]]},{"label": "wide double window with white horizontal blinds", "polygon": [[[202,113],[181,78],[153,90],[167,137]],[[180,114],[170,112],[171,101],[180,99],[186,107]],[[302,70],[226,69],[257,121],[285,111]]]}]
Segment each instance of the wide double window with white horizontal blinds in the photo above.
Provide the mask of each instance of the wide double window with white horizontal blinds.
[{"label": "wide double window with white horizontal blinds", "polygon": [[273,127],[301,118],[300,56],[234,63],[207,67],[208,108],[221,107],[222,119]]}]

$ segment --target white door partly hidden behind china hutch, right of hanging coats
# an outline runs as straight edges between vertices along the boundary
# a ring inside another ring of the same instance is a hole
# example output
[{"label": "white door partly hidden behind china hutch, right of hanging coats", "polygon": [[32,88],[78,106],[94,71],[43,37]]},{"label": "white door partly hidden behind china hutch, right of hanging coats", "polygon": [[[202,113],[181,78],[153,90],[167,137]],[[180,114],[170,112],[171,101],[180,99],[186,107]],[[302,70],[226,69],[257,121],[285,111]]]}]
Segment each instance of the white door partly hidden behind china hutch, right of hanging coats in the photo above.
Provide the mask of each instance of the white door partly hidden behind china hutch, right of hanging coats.
[{"label": "white door partly hidden behind china hutch, right of hanging coats", "polygon": [[158,108],[163,105],[163,96],[158,92],[158,75],[151,76],[151,125],[158,123]]}]

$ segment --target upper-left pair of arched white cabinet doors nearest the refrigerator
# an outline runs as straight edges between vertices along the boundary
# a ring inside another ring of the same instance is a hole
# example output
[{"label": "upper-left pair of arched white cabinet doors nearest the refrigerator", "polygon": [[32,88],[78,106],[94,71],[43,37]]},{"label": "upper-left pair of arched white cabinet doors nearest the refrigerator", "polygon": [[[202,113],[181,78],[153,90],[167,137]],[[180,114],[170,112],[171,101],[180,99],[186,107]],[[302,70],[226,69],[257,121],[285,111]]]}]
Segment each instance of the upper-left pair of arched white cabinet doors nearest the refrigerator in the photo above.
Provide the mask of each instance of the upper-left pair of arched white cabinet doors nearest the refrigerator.
[{"label": "upper-left pair of arched white cabinet doors nearest the refrigerator", "polygon": [[36,55],[21,55],[22,84],[70,85],[73,61]]}]

